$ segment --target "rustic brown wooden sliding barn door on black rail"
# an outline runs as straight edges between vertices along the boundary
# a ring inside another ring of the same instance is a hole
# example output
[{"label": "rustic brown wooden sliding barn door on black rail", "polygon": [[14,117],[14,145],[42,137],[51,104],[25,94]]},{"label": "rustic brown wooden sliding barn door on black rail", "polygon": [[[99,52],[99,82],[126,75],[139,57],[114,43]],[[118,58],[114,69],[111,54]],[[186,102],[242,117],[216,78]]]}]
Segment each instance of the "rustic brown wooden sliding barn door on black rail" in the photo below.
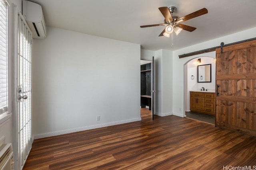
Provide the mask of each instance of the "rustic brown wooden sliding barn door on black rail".
[{"label": "rustic brown wooden sliding barn door on black rail", "polygon": [[216,126],[256,136],[256,40],[216,49]]}]

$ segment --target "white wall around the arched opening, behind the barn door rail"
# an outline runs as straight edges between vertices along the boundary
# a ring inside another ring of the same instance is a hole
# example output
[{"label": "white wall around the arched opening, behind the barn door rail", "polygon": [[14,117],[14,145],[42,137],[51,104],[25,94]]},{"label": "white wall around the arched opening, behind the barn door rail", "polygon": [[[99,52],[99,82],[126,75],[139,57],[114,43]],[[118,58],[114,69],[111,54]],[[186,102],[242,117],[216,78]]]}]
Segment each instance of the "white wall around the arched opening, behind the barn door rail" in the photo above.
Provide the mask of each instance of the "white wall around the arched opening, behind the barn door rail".
[{"label": "white wall around the arched opening, behind the barn door rail", "polygon": [[242,41],[245,39],[250,39],[256,37],[256,28],[248,29],[245,31],[241,31],[238,33],[234,33],[231,35],[227,35],[224,37],[220,37],[217,39],[213,39],[210,41],[206,41],[200,44],[192,45],[190,47],[186,47],[183,49],[179,49],[176,51],[173,51],[173,114],[182,116],[185,113],[185,102],[184,102],[184,64],[186,64],[188,61],[196,58],[195,56],[185,57],[182,59],[179,59],[178,55],[185,54],[185,53],[191,53],[193,51],[198,51],[202,49],[208,49],[211,47],[220,46],[221,42],[224,42],[224,44],[228,43],[234,43],[236,41]]}]

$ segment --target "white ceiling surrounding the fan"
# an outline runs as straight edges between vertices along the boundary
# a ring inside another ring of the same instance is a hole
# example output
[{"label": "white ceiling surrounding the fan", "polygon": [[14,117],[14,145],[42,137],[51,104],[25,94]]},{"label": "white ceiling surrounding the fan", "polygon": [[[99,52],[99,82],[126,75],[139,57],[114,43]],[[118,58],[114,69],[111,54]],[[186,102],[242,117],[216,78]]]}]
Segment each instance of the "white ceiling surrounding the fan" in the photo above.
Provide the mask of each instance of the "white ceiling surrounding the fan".
[{"label": "white ceiling surrounding the fan", "polygon": [[[46,25],[140,44],[142,49],[176,50],[256,27],[256,0],[30,0],[42,6]],[[208,14],[184,21],[196,27],[170,38],[158,37],[164,26],[158,10],[176,6],[180,17],[206,8]],[[252,37],[254,38],[254,37]]]}]

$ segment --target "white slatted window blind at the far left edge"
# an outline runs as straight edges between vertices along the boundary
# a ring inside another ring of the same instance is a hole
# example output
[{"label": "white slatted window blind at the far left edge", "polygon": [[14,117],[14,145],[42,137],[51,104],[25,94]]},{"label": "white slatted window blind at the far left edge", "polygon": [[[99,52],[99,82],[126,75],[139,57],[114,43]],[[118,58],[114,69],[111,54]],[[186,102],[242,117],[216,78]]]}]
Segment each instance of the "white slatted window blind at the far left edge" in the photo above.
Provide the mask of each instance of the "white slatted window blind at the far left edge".
[{"label": "white slatted window blind at the far left edge", "polygon": [[0,114],[7,111],[7,2],[0,0]]}]

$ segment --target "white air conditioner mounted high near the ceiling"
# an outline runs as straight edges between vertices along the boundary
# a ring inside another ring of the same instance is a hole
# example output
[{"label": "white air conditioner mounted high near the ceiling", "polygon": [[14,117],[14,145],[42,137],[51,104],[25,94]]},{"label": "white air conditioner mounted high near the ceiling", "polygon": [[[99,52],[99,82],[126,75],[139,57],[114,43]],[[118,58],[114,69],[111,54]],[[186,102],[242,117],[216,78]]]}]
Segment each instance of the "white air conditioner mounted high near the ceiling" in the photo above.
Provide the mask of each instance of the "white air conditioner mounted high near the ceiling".
[{"label": "white air conditioner mounted high near the ceiling", "polygon": [[32,31],[33,38],[43,39],[46,37],[44,15],[39,4],[22,0],[22,15]]}]

